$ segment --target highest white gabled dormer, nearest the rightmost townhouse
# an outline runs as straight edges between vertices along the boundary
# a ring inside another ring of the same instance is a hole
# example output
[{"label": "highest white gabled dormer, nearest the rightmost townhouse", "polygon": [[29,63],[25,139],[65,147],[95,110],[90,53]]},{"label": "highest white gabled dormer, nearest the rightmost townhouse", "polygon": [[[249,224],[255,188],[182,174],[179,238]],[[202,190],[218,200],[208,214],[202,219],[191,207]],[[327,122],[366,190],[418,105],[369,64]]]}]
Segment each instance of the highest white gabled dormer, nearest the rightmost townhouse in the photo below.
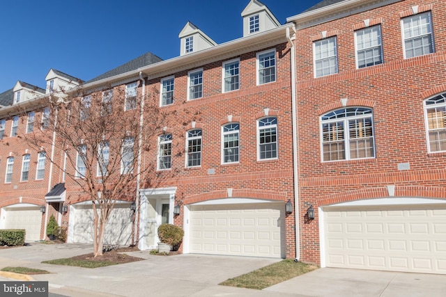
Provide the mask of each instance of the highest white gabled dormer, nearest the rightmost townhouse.
[{"label": "highest white gabled dormer, nearest the rightmost townhouse", "polygon": [[242,12],[243,37],[280,26],[279,21],[261,1],[251,0]]}]

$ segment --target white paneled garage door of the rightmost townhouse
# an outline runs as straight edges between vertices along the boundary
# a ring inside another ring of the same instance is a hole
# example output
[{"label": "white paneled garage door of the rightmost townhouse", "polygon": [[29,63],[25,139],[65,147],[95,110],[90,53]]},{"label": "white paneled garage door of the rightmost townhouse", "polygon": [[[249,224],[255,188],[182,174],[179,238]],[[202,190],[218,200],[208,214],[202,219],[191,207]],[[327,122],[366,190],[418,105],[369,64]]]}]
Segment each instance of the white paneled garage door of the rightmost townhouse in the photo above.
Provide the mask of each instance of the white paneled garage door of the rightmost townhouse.
[{"label": "white paneled garage door of the rightmost townhouse", "polygon": [[329,267],[446,274],[446,206],[324,211]]}]

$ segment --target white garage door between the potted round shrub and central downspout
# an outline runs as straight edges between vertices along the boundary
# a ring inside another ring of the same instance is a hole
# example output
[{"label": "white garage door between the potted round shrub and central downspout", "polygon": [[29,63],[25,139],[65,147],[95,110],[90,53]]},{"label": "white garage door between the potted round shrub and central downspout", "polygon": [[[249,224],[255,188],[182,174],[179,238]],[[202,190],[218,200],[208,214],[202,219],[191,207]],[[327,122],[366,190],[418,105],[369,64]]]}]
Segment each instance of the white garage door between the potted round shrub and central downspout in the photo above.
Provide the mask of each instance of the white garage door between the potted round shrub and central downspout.
[{"label": "white garage door between the potted round shrub and central downspout", "polygon": [[190,252],[285,257],[284,203],[193,206]]}]

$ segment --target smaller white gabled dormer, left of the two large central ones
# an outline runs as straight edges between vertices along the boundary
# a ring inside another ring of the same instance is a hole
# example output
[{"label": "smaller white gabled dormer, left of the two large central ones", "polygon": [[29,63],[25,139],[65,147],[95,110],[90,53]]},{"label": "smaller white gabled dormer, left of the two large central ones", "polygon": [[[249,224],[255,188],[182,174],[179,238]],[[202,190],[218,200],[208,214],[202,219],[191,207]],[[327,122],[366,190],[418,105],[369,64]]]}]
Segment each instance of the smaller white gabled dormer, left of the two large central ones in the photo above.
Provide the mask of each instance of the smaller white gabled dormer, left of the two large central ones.
[{"label": "smaller white gabled dormer, left of the two large central ones", "polygon": [[198,29],[198,27],[191,22],[187,22],[178,37],[180,38],[181,47],[180,56],[217,45],[214,40],[210,39],[208,35],[203,33],[203,31]]}]

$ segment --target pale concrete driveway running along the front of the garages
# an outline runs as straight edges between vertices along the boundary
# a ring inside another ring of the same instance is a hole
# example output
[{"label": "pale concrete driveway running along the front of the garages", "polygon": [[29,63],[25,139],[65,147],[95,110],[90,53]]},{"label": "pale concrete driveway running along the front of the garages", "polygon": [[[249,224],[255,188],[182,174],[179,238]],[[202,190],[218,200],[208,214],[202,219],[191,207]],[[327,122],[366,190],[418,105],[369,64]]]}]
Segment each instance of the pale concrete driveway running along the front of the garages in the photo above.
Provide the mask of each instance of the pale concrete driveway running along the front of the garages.
[{"label": "pale concrete driveway running along the front of the garages", "polygon": [[[219,286],[228,278],[253,271],[279,259],[212,255],[153,256],[148,251],[127,252],[144,258],[102,268],[41,264],[47,259],[82,255],[91,245],[47,245],[0,250],[0,268],[26,266],[52,272],[33,275],[49,282],[50,292],[62,296],[445,296],[446,275],[359,271],[321,268],[262,291]],[[5,280],[0,274],[0,280]]]}]

